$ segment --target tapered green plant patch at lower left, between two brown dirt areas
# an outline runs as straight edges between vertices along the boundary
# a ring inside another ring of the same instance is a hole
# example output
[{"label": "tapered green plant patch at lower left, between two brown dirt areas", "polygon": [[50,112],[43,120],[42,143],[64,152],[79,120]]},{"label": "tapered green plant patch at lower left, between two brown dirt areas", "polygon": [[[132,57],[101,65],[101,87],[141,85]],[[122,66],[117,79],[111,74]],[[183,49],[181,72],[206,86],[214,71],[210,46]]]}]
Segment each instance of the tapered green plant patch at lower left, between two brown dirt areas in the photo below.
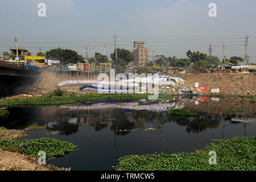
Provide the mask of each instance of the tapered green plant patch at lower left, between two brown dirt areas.
[{"label": "tapered green plant patch at lower left, between two brown dirt areas", "polygon": [[11,150],[23,155],[32,155],[38,157],[39,151],[46,152],[46,157],[64,155],[65,152],[76,148],[72,143],[61,141],[55,138],[39,138],[31,140],[0,140],[2,150]]}]

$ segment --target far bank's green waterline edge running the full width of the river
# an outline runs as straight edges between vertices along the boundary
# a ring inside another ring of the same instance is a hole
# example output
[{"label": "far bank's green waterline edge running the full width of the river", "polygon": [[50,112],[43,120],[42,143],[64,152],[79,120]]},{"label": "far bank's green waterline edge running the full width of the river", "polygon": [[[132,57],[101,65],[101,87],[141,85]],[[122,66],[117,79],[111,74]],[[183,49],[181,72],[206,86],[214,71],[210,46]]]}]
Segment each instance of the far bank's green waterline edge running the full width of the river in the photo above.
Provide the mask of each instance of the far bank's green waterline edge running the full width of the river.
[{"label": "far bank's green waterline edge running the full width of the river", "polygon": [[[14,98],[7,99],[3,98],[0,100],[0,106],[36,106],[36,105],[60,105],[60,104],[72,104],[77,102],[95,102],[102,100],[113,100],[113,101],[127,101],[127,100],[139,100],[147,99],[150,94],[138,94],[138,93],[89,93],[89,94],[80,94],[75,93],[64,95],[64,96],[52,96],[48,94],[46,96],[38,97],[26,97],[26,98]],[[197,96],[195,94],[161,94],[158,96],[159,99],[162,98],[172,98],[172,97],[193,97]],[[222,95],[222,94],[205,94],[204,97],[241,97],[241,98],[251,98],[254,100],[256,96],[232,96],[232,95]]]}]

